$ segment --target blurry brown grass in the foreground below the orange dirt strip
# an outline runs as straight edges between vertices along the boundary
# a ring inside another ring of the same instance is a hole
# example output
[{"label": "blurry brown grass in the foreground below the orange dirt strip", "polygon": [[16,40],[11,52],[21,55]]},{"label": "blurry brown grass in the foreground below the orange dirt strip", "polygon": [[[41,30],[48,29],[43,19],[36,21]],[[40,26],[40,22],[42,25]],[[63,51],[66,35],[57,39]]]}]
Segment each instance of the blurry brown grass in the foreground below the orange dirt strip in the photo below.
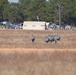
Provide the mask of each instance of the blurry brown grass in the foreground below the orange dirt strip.
[{"label": "blurry brown grass in the foreground below the orange dirt strip", "polygon": [[76,52],[0,53],[0,75],[75,75]]}]

